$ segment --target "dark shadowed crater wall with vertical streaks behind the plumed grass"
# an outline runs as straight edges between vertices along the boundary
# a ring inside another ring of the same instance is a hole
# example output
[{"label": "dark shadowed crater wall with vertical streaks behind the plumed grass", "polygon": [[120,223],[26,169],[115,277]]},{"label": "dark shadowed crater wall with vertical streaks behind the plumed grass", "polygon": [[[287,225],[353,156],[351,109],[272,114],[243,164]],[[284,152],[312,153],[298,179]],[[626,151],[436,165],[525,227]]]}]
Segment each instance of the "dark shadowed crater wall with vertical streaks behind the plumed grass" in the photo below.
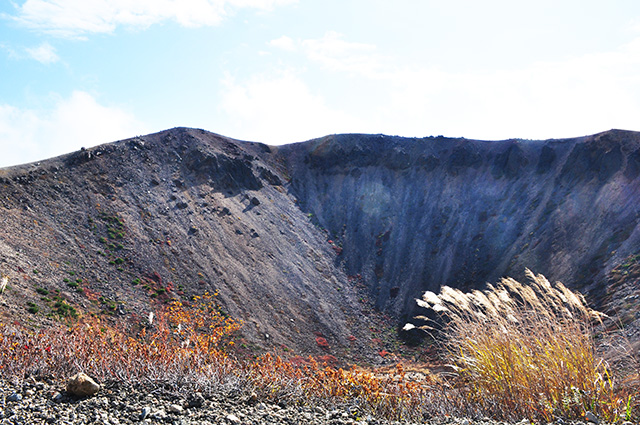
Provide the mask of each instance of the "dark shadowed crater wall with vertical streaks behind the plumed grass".
[{"label": "dark shadowed crater wall with vertical streaks behind the plumed grass", "polygon": [[291,192],[343,249],[378,307],[409,319],[441,285],[525,267],[604,295],[640,250],[640,134],[476,141],[336,135],[283,146]]}]

